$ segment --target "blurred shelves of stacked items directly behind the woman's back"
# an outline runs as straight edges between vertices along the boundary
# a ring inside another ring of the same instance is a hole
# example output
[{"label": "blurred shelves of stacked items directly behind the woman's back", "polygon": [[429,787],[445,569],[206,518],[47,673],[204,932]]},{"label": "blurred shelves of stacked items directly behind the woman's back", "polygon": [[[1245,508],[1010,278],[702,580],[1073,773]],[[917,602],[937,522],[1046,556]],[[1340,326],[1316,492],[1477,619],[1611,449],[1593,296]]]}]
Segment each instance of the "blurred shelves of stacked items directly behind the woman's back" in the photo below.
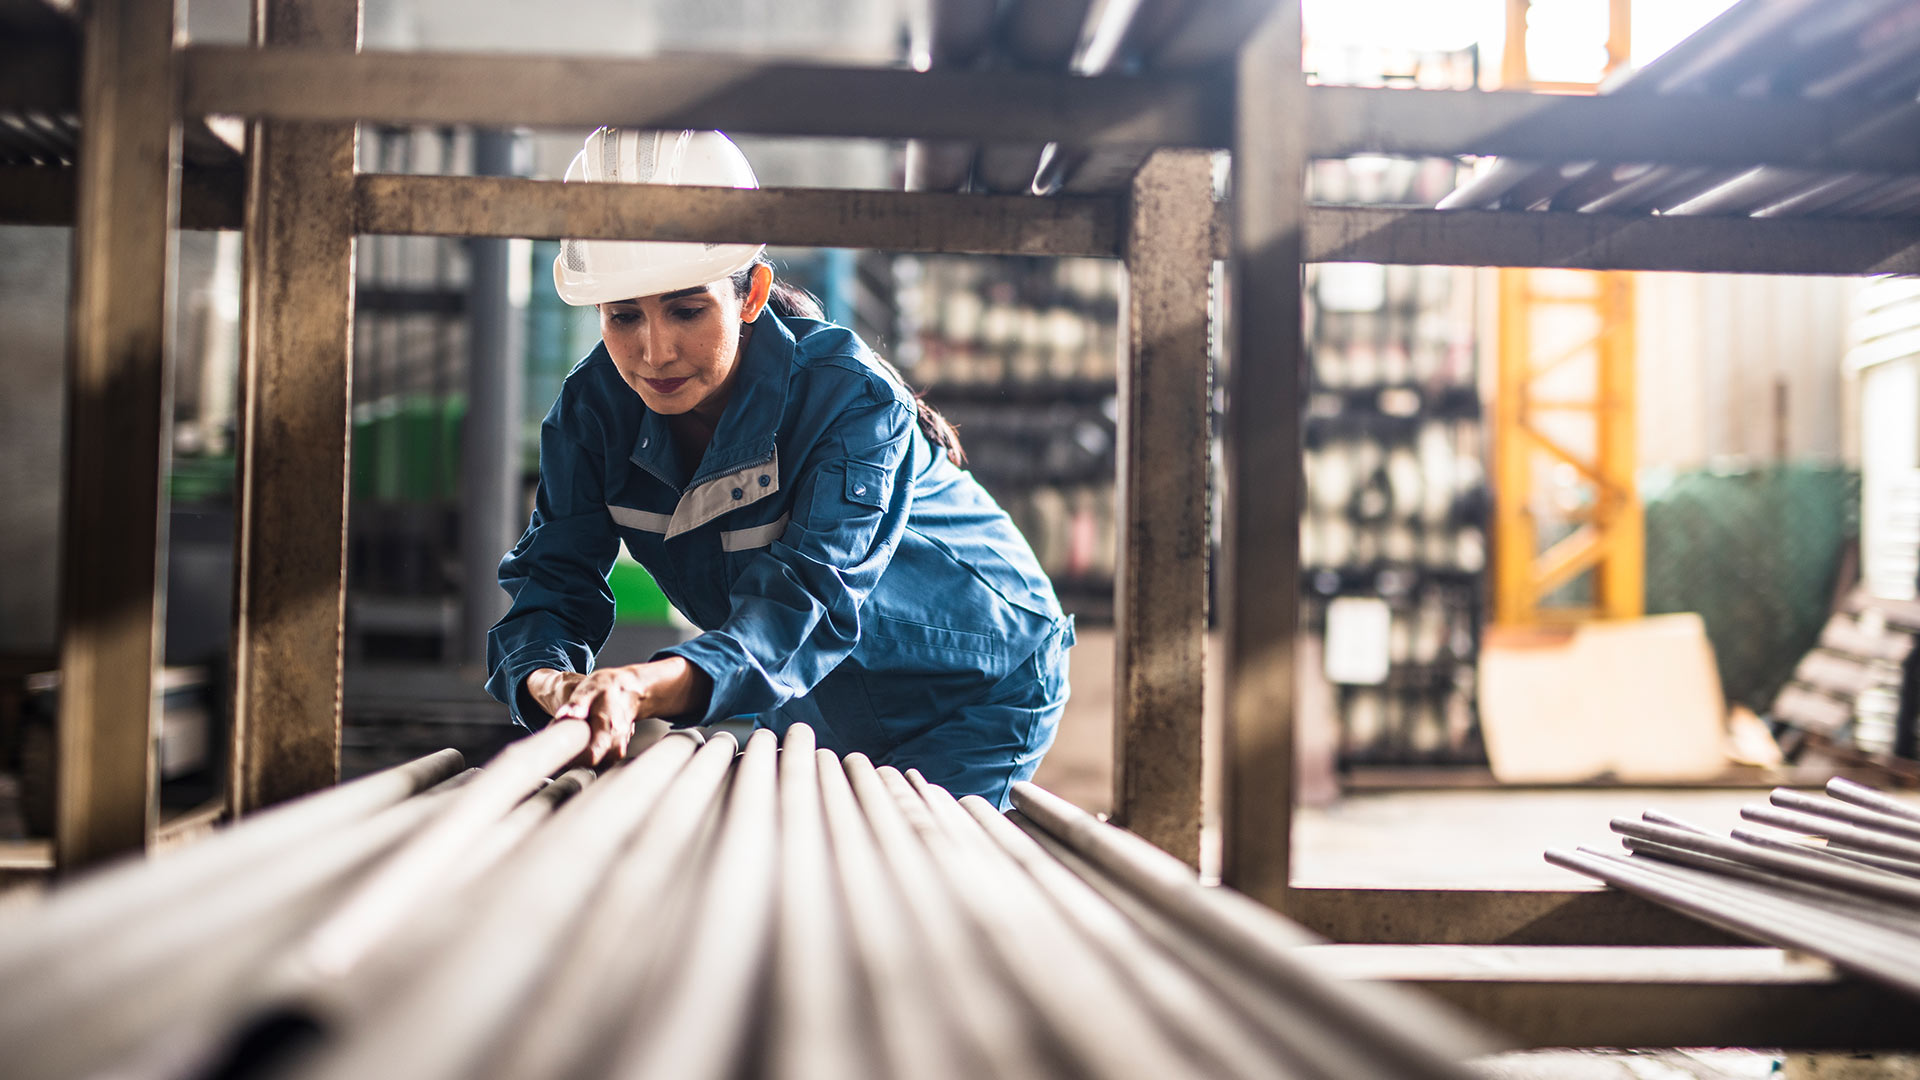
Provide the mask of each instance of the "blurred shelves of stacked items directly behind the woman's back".
[{"label": "blurred shelves of stacked items directly behind the woman's back", "polygon": [[1110,619],[1119,265],[902,256],[895,282],[893,359],[960,429],[1068,609]]}]

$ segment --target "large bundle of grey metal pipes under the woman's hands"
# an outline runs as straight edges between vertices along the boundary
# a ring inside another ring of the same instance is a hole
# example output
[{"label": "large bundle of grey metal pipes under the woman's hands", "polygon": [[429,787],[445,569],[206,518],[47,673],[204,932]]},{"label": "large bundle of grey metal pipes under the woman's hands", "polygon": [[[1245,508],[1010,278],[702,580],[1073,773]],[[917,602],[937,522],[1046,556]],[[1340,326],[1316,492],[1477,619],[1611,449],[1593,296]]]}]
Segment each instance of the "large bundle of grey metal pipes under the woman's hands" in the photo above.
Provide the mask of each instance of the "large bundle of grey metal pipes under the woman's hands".
[{"label": "large bundle of grey metal pipes under the woman's hands", "polygon": [[1031,784],[1002,817],[806,726],[595,778],[586,738],[50,892],[0,924],[6,1074],[1463,1078],[1490,1049]]}]

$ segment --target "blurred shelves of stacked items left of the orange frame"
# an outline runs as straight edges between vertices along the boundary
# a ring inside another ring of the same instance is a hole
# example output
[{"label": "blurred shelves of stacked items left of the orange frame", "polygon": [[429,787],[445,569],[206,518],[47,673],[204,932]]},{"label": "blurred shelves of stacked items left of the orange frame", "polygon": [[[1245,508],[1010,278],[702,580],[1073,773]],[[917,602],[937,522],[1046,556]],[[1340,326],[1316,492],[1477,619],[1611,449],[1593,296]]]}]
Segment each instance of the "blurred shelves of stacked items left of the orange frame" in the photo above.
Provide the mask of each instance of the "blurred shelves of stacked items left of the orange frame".
[{"label": "blurred shelves of stacked items left of the orange frame", "polygon": [[[1319,161],[1313,198],[1427,204],[1450,161]],[[1488,496],[1473,271],[1308,271],[1304,628],[1323,634],[1346,765],[1478,763]]]}]

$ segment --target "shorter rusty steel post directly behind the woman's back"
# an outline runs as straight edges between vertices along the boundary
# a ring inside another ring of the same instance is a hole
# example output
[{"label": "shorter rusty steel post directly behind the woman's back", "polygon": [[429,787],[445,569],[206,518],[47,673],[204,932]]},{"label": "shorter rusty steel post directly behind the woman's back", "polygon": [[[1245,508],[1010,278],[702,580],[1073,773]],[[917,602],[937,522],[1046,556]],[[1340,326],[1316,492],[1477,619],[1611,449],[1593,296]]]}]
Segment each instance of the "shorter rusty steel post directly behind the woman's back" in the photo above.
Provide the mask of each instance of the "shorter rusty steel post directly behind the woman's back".
[{"label": "shorter rusty steel post directly behind the woman's back", "polygon": [[1127,204],[1114,819],[1200,863],[1213,161],[1160,150]]}]

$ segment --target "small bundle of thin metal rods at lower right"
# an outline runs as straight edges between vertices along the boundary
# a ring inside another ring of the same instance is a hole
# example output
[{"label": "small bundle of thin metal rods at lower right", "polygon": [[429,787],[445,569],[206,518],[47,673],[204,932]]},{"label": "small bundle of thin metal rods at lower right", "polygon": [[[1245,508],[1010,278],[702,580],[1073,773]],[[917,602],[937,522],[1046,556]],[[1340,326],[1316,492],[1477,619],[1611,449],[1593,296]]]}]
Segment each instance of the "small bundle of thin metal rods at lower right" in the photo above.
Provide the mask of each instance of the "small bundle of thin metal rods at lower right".
[{"label": "small bundle of thin metal rods at lower right", "polygon": [[1764,945],[1801,949],[1920,995],[1920,807],[1851,780],[1826,796],[1778,788],[1715,836],[1647,811],[1615,819],[1630,855],[1580,847],[1548,861]]}]

